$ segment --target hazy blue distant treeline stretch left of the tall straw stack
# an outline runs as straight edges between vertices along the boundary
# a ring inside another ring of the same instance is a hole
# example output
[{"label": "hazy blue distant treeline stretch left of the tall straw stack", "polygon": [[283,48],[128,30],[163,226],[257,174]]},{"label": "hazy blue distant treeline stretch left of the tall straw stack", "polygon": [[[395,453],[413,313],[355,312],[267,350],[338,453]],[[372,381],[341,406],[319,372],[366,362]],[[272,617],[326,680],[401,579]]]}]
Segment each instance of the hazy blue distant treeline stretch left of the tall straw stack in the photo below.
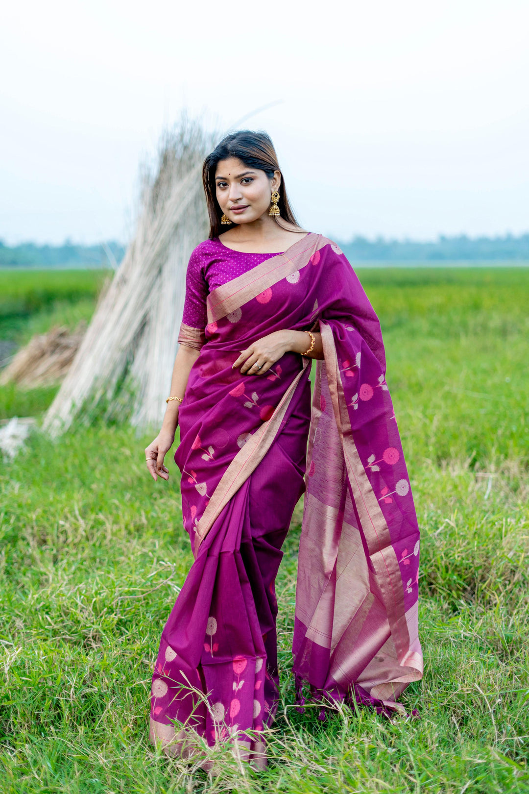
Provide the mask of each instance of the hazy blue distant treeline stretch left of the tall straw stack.
[{"label": "hazy blue distant treeline stretch left of the tall straw stack", "polygon": [[0,240],[0,267],[4,268],[113,268],[119,264],[125,248],[116,241],[98,245],[5,245]]}]

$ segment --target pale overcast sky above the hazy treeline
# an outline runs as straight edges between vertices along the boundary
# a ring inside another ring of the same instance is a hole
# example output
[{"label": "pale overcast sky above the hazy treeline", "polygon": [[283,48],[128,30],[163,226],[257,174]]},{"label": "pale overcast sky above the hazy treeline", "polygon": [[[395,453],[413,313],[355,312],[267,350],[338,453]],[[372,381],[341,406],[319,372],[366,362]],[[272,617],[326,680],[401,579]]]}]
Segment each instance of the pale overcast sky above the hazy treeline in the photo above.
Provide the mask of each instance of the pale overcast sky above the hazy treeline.
[{"label": "pale overcast sky above the hazy treeline", "polygon": [[272,136],[305,228],[529,230],[528,0],[18,0],[0,28],[0,238],[127,240],[183,107]]}]

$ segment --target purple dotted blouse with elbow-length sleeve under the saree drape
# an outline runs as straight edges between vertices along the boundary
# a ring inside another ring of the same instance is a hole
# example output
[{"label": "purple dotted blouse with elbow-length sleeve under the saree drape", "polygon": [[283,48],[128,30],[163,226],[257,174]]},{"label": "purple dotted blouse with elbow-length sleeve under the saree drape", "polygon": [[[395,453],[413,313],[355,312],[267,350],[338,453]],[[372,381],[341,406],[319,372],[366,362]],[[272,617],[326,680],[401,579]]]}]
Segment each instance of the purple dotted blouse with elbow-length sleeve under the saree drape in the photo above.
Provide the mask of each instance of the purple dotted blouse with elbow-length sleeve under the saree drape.
[{"label": "purple dotted blouse with elbow-length sleeve under the saree drape", "polygon": [[205,299],[209,293],[278,253],[233,251],[218,237],[197,245],[190,256],[186,274],[186,300],[182,322],[191,328],[205,329],[208,324]]}]

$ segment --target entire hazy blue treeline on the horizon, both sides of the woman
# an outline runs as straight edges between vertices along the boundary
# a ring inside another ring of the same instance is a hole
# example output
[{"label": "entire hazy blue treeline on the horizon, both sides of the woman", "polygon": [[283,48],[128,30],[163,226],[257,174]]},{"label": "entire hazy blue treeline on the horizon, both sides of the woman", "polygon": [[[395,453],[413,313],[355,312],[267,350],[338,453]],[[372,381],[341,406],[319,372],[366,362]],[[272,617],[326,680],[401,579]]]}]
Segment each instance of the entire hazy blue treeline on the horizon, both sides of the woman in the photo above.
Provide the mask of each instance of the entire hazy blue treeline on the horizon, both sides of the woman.
[{"label": "entire hazy blue treeline on the horizon, both sides of the woman", "polygon": [[[386,240],[353,237],[339,243],[352,262],[366,261],[450,261],[450,260],[526,260],[529,261],[529,233],[514,237],[440,236],[434,242]],[[0,241],[0,267],[17,268],[109,268],[119,264],[125,248],[116,241],[98,245],[5,245]]]}]

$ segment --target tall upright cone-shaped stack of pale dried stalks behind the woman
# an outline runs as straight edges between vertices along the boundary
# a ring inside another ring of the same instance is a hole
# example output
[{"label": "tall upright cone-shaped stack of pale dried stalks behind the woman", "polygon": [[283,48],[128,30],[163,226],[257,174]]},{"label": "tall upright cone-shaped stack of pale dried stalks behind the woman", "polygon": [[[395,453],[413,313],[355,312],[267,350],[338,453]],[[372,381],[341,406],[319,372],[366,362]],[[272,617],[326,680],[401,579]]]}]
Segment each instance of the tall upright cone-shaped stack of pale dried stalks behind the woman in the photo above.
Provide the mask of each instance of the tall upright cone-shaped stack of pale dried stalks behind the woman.
[{"label": "tall upright cone-shaped stack of pale dried stalks behind the woman", "polygon": [[213,140],[182,117],[163,137],[154,178],[144,176],[136,237],[95,311],[44,419],[58,435],[77,417],[130,418],[140,430],[163,417],[178,347],[190,252],[207,236],[201,162]]}]

